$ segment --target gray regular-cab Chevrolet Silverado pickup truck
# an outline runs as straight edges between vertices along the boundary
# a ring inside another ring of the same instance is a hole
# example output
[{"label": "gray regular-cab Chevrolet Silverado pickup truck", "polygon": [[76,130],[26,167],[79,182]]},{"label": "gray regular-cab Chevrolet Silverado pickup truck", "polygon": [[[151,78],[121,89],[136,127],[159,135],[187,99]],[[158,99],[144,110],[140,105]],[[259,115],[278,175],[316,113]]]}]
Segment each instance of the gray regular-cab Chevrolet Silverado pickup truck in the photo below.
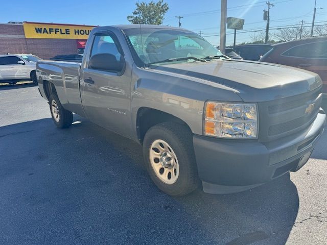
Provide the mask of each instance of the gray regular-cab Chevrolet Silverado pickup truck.
[{"label": "gray regular-cab Chevrolet Silverado pickup truck", "polygon": [[238,192],[296,171],[326,120],[318,75],[229,59],[180,28],[97,27],[81,64],[38,61],[36,72],[57,127],[74,112],[142,144],[170,195],[201,183]]}]

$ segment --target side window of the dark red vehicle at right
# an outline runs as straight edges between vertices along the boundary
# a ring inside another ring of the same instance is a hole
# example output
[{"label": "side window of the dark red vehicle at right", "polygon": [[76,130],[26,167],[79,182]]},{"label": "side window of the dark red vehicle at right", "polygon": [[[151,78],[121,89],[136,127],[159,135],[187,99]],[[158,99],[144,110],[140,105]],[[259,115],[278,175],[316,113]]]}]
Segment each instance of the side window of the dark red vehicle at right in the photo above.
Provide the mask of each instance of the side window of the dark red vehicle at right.
[{"label": "side window of the dark red vehicle at right", "polygon": [[299,58],[327,59],[327,42],[315,42],[295,46],[282,55]]}]

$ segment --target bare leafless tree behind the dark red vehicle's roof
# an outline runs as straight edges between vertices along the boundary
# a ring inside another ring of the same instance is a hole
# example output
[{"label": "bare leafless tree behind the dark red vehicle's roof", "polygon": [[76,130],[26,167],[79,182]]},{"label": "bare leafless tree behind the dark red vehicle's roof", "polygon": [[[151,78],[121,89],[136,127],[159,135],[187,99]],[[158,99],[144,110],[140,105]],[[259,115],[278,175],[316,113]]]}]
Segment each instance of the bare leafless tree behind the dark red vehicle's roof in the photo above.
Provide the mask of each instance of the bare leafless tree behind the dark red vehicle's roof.
[{"label": "bare leafless tree behind the dark red vehicle's roof", "polygon": [[283,41],[292,41],[305,37],[310,37],[310,28],[302,27],[301,24],[292,28],[283,28],[272,34],[275,38]]}]

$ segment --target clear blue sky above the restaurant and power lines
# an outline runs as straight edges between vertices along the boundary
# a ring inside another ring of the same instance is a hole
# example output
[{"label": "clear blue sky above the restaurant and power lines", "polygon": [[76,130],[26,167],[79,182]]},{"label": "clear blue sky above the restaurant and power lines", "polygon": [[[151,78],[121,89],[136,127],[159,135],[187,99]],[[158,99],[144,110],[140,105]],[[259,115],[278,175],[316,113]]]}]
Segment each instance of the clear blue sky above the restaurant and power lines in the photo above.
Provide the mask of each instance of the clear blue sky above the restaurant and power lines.
[{"label": "clear blue sky above the restaurant and power lines", "polygon": [[[8,21],[34,21],[87,24],[109,26],[111,24],[127,24],[127,15],[135,9],[133,0],[31,0],[7,1],[0,0],[2,10],[0,23]],[[139,0],[142,2],[142,0]],[[144,2],[150,2],[145,0]],[[156,1],[155,1],[156,2]],[[178,19],[183,16],[182,28],[202,33],[202,36],[214,45],[219,44],[220,32],[220,0],[166,0],[169,11],[163,24],[177,27]],[[274,7],[270,9],[270,32],[276,28],[294,26],[301,20],[303,26],[311,26],[315,0],[270,0]],[[317,0],[315,23],[327,23],[327,0]],[[322,8],[322,9],[320,9]],[[266,29],[263,10],[267,9],[263,0],[228,0],[227,17],[245,19],[244,30],[237,31],[237,43],[252,41],[254,32]],[[246,32],[246,33],[241,33]],[[226,45],[233,43],[233,30],[227,30]]]}]

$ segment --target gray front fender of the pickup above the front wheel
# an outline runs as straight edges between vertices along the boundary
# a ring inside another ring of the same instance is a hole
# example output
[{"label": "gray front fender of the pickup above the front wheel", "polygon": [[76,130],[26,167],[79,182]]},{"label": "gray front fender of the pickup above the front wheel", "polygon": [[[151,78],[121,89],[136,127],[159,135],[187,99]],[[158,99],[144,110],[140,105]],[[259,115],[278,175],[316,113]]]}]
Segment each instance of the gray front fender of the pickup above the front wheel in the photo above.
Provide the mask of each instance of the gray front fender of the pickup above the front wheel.
[{"label": "gray front fender of the pickup above the front wheel", "polygon": [[[134,81],[134,83],[133,83]],[[131,113],[136,130],[137,111],[147,107],[183,120],[194,134],[202,134],[202,114],[207,100],[241,101],[233,91],[207,81],[183,75],[141,69],[134,66],[132,77]]]}]

